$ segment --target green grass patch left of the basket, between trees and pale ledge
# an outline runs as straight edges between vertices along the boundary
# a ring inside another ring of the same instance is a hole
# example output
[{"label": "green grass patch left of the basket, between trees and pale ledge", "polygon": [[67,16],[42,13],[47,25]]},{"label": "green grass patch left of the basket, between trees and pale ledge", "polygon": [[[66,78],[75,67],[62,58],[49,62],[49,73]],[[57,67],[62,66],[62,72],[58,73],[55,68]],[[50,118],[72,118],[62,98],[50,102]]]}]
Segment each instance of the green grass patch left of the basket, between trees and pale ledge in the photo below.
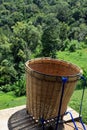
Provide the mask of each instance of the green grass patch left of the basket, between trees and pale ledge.
[{"label": "green grass patch left of the basket, between trees and pale ledge", "polygon": [[3,93],[0,92],[0,109],[24,105],[26,97],[15,97],[13,92]]}]

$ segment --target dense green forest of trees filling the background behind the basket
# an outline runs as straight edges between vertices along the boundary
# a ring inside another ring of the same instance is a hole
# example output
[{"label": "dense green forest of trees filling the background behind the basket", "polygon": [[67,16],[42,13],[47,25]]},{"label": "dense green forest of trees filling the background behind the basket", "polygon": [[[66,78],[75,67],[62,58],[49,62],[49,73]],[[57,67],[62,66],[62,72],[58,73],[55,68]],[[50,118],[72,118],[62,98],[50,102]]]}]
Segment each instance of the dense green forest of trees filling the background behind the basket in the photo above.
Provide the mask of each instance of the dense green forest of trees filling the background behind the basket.
[{"label": "dense green forest of trees filling the background behind the basket", "polygon": [[87,0],[0,0],[0,91],[25,94],[27,60],[86,48]]}]

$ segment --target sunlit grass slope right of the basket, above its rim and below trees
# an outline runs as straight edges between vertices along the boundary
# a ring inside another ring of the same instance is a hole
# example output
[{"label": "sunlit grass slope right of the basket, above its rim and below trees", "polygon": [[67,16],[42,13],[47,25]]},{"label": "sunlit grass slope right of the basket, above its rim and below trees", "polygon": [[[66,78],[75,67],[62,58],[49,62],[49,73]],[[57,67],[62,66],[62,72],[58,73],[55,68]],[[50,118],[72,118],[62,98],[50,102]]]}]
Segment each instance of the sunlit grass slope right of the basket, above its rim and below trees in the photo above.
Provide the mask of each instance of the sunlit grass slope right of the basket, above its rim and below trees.
[{"label": "sunlit grass slope right of the basket, above its rim and below trees", "polygon": [[72,62],[87,72],[87,48],[70,53],[69,51],[57,52],[57,58]]}]

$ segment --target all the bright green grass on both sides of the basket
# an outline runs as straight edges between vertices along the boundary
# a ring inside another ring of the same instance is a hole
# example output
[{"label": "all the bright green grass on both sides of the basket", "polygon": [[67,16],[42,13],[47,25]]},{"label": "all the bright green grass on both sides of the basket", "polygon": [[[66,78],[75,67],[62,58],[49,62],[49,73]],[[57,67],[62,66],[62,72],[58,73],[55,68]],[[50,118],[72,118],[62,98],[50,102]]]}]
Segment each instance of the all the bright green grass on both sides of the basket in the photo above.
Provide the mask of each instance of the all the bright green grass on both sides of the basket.
[{"label": "all the bright green grass on both sides of the basket", "polygon": [[[80,66],[87,73],[87,48],[83,50],[77,50],[76,52],[58,52],[58,59],[70,61]],[[86,76],[87,77],[87,76]],[[71,97],[69,106],[79,112],[79,105],[81,100],[82,89],[75,90]],[[26,103],[26,97],[15,97],[13,92],[3,93],[0,92],[0,109],[15,107]],[[87,123],[87,88],[85,90],[83,110],[82,110],[83,121]]]}]

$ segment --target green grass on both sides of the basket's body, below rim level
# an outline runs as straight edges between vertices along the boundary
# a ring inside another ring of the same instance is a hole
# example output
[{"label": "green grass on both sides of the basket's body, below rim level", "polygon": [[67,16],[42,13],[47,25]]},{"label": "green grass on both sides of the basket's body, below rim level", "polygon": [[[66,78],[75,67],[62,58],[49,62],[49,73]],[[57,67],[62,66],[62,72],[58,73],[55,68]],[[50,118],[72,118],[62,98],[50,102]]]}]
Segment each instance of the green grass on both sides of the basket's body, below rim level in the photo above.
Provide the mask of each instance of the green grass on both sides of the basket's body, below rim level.
[{"label": "green grass on both sides of the basket's body, below rim level", "polygon": [[[69,106],[79,112],[80,100],[81,100],[82,90],[75,90]],[[0,92],[0,109],[15,107],[26,104],[26,97],[15,97],[13,92],[3,93]],[[83,110],[82,110],[83,121],[87,123],[87,89],[85,90],[84,100],[83,100]]]}]

